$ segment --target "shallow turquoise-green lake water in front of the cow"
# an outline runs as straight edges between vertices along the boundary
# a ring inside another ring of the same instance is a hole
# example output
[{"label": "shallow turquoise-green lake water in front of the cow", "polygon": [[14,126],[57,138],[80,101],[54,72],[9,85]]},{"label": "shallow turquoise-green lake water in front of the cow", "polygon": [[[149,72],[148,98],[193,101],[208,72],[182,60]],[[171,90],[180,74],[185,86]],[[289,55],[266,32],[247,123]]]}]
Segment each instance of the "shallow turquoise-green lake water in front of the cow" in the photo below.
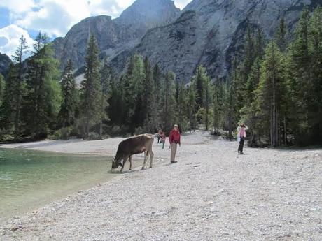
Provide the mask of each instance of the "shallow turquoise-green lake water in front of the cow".
[{"label": "shallow turquoise-green lake water in front of the cow", "polygon": [[[0,149],[0,221],[113,177],[107,156]],[[109,167],[108,167],[109,166]]]}]

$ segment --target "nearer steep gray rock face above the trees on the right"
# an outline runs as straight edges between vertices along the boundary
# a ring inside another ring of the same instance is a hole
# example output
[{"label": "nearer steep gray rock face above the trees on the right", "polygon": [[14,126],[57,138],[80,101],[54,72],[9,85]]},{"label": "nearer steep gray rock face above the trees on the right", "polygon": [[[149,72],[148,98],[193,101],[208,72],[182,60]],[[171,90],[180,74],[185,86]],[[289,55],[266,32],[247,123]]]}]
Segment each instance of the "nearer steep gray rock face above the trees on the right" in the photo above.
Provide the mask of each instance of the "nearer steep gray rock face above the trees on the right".
[{"label": "nearer steep gray rock face above the trees on the right", "polygon": [[261,26],[272,38],[281,17],[292,29],[304,6],[313,9],[321,0],[194,0],[172,24],[149,30],[141,43],[113,59],[121,70],[134,52],[150,57],[164,71],[174,71],[188,82],[199,64],[211,78],[228,73],[232,55],[242,49],[248,24]]}]

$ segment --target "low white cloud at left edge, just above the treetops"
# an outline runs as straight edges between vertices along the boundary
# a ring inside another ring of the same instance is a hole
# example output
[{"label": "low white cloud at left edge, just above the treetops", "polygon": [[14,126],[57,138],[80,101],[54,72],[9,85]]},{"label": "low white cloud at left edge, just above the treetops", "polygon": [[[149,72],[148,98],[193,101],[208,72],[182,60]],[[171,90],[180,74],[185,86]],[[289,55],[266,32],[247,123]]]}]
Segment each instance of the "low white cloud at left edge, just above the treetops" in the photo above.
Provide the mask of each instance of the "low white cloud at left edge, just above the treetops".
[{"label": "low white cloud at left edge, just above the treetops", "polygon": [[28,32],[25,29],[22,29],[15,24],[11,24],[0,29],[0,52],[6,53],[9,57],[11,57],[11,55],[15,53],[15,50],[18,47],[20,43],[19,39],[22,35],[26,38],[29,48],[31,48],[35,41],[30,38]]}]

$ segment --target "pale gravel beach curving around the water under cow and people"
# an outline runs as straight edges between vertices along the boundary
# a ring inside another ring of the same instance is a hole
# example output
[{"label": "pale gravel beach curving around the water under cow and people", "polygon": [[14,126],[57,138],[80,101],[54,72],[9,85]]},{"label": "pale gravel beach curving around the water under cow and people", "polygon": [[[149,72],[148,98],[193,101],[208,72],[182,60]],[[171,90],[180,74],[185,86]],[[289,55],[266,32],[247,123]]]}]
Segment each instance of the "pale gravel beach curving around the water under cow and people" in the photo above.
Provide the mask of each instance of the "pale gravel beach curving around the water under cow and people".
[{"label": "pale gravel beach curving around the water under cow and people", "polygon": [[[120,140],[1,147],[114,155]],[[238,155],[237,142],[197,131],[171,165],[168,147],[155,141],[153,168],[0,224],[0,240],[322,240],[322,149]]]}]

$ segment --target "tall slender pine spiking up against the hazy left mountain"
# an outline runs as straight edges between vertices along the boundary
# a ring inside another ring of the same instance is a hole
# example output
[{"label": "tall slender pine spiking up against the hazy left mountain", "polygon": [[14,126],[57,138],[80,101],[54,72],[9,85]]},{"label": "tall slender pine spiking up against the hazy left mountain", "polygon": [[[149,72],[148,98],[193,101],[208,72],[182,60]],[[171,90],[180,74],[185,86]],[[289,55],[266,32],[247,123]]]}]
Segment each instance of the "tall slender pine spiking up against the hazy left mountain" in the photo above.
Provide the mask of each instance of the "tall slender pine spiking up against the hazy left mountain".
[{"label": "tall slender pine spiking up against the hazy left mountain", "polygon": [[81,88],[81,108],[83,111],[85,139],[89,137],[90,127],[96,124],[100,117],[102,87],[99,67],[99,50],[95,37],[91,35],[85,61],[85,79],[82,82]]}]

